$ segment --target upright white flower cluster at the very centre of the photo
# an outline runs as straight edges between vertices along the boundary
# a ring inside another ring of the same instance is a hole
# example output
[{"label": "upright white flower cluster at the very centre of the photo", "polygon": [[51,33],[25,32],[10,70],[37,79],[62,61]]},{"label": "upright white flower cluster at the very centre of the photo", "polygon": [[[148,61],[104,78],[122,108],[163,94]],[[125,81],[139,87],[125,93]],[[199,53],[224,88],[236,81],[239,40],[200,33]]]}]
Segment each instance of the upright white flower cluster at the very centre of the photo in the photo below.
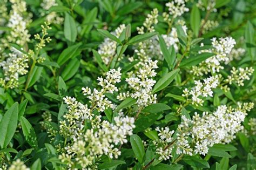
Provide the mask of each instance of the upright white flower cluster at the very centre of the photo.
[{"label": "upright white flower cluster at the very centre of the photo", "polygon": [[146,63],[140,66],[136,73],[133,73],[131,77],[125,79],[131,88],[131,92],[120,93],[117,99],[124,100],[126,97],[132,97],[137,99],[136,104],[138,104],[140,108],[156,103],[157,94],[152,94],[152,87],[156,81],[153,80],[152,77],[157,75],[154,71],[154,69],[157,68],[157,60],[153,61],[148,59]]}]

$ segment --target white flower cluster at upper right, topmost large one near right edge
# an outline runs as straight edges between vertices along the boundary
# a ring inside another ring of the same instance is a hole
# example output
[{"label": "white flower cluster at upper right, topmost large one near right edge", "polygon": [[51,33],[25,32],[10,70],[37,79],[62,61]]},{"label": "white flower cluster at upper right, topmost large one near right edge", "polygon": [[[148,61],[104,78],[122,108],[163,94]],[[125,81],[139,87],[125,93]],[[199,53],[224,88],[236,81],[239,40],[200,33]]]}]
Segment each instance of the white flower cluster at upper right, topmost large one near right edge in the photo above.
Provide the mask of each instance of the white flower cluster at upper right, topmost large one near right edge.
[{"label": "white flower cluster at upper right, topmost large one near right edge", "polygon": [[[196,76],[203,76],[204,73],[207,74],[209,72],[219,72],[224,69],[221,62],[225,64],[230,62],[229,55],[236,44],[235,40],[232,37],[219,38],[219,40],[214,37],[211,40],[214,49],[201,50],[200,52],[210,52],[215,55],[201,62],[199,66],[192,66],[191,73]],[[204,44],[202,43],[201,46],[204,46]]]}]

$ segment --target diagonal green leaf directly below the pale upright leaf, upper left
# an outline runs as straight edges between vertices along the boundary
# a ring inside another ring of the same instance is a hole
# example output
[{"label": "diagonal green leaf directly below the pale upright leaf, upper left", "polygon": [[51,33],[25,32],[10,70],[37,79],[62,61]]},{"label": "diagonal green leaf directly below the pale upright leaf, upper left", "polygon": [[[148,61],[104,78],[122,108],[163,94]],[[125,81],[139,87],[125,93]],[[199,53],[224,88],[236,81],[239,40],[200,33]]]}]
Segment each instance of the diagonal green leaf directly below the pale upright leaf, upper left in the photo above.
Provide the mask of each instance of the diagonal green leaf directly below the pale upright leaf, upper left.
[{"label": "diagonal green leaf directly below the pale upright leaf, upper left", "polygon": [[63,65],[69,59],[80,55],[81,51],[78,48],[79,48],[79,46],[81,46],[81,44],[82,43],[78,43],[78,44],[72,45],[72,46],[66,48],[65,50],[63,50],[62,53],[60,53],[60,55],[58,57],[57,63],[59,65]]}]

